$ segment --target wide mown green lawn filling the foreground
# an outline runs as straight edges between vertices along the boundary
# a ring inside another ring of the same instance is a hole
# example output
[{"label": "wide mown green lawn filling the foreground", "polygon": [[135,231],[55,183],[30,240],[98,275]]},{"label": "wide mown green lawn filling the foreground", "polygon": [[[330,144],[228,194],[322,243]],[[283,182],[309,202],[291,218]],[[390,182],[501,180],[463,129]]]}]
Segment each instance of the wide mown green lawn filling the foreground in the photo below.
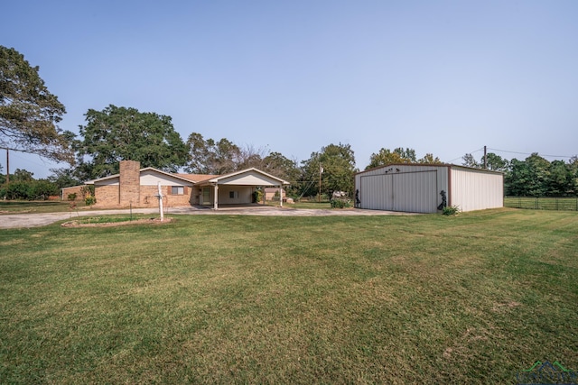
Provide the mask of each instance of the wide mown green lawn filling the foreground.
[{"label": "wide mown green lawn filling the foreground", "polygon": [[578,215],[0,231],[0,383],[514,383],[578,370]]}]

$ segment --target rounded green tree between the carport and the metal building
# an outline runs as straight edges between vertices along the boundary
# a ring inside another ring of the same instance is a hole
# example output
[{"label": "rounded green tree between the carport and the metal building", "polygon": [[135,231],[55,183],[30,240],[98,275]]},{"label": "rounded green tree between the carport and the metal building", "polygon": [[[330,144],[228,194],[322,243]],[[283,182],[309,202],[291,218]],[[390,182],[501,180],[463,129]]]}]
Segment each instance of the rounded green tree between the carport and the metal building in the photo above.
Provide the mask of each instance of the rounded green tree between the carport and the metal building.
[{"label": "rounded green tree between the carport and the metal building", "polygon": [[322,194],[331,196],[333,191],[345,191],[353,195],[355,156],[349,144],[330,144],[320,152],[312,152],[309,160],[302,161],[303,195],[315,195],[322,179]]}]

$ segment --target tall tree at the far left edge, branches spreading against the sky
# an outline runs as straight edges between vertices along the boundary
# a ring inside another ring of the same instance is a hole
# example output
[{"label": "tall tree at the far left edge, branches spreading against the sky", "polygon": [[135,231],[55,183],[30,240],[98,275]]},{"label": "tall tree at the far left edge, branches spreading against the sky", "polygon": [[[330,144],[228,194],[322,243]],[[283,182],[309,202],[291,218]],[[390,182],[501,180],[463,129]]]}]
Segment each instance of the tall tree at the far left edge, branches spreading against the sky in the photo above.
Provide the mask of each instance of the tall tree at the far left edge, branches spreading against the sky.
[{"label": "tall tree at the far left edge, branches spreading against the sky", "polygon": [[0,45],[0,147],[72,162],[70,133],[57,126],[66,113],[23,54]]}]

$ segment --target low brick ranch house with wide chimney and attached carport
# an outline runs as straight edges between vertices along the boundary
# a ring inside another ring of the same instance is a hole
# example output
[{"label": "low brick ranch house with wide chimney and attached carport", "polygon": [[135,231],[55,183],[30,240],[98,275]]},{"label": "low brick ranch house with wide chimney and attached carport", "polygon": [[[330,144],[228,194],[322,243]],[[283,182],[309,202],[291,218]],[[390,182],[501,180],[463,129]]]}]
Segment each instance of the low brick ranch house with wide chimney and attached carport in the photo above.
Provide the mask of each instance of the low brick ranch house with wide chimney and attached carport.
[{"label": "low brick ranch house with wide chimney and attached carport", "polygon": [[140,168],[135,160],[121,160],[119,173],[89,180],[94,185],[98,207],[158,206],[159,186],[163,206],[248,205],[257,188],[289,185],[257,169],[240,170],[225,175],[172,174],[152,167]]}]

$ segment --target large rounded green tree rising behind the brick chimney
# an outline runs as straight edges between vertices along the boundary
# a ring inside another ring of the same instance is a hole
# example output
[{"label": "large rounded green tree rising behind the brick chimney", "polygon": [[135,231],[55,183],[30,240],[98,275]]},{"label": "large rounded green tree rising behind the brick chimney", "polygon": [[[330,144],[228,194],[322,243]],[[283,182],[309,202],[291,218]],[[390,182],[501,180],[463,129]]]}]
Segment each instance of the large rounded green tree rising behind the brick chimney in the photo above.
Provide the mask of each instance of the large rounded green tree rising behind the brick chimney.
[{"label": "large rounded green tree rising behind the brick chimney", "polygon": [[120,160],[137,160],[141,167],[175,172],[188,160],[187,146],[174,130],[170,116],[141,113],[135,108],[108,105],[89,109],[75,142],[79,179],[118,172]]}]

